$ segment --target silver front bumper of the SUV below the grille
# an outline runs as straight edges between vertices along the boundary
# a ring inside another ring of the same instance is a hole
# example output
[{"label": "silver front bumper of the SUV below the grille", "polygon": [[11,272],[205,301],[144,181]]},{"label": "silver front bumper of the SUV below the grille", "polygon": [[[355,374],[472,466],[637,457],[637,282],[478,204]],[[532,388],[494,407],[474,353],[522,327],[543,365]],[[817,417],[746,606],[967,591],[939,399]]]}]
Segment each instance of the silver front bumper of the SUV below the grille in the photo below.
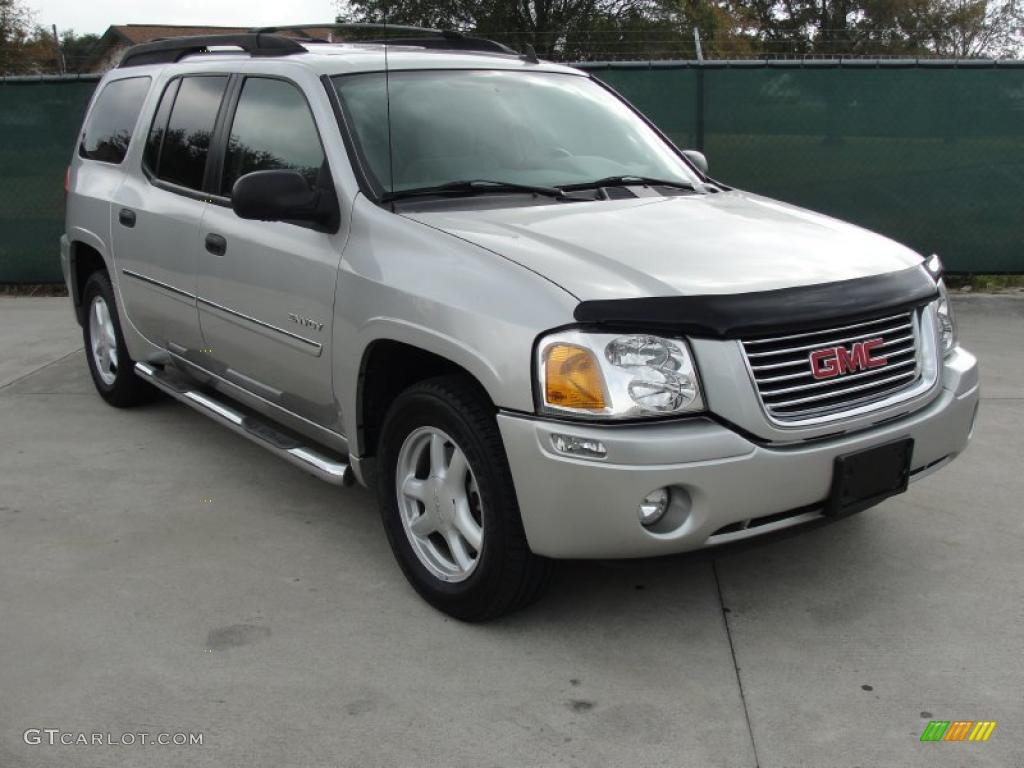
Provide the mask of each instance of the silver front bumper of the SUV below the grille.
[{"label": "silver front bumper of the SUV below the grille", "polygon": [[[977,360],[957,347],[945,358],[941,376],[935,397],[903,418],[800,443],[756,442],[708,418],[605,426],[500,414],[498,423],[534,552],[559,558],[647,557],[820,517],[835,459],[844,454],[912,437],[911,479],[937,469],[970,439],[978,406]],[[558,454],[551,443],[554,433],[599,439],[607,457]],[[674,492],[666,525],[647,529],[637,507],[647,494],[666,486]]]}]

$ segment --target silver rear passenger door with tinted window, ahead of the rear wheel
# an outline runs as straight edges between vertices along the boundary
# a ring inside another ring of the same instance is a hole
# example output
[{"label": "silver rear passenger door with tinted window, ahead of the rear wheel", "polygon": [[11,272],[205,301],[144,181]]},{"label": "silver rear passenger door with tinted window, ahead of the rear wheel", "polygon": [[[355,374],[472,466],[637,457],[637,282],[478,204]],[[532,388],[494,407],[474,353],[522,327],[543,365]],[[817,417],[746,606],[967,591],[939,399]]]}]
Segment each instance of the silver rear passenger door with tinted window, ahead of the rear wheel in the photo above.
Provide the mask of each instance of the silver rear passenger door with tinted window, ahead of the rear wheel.
[{"label": "silver rear passenger door with tinted window, ahead of the rear wheel", "polygon": [[112,239],[121,295],[132,324],[171,351],[196,356],[203,346],[196,309],[200,222],[210,141],[228,84],[226,75],[171,80],[157,108],[139,173],[114,198]]}]

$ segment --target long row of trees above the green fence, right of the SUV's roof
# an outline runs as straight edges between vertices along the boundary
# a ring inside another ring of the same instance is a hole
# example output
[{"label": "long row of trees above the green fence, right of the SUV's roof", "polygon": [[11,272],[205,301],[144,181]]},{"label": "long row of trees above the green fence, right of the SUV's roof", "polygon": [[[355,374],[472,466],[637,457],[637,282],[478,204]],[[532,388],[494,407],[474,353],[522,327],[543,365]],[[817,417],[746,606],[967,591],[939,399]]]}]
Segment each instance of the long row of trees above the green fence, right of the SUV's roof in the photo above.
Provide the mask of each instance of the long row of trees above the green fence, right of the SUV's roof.
[{"label": "long row of trees above the green fence, right of the SUV's roof", "polygon": [[338,0],[339,17],[473,31],[561,59],[1024,54],[1024,0]]}]

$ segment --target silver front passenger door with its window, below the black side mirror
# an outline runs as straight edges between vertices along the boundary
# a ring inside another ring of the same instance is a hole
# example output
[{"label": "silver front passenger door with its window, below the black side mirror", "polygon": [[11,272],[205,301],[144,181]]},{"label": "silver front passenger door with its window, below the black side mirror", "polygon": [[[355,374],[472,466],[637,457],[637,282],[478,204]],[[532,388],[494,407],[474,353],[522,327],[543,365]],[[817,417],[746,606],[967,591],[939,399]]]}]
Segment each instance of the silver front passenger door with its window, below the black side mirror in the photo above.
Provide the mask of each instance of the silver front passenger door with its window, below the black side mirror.
[{"label": "silver front passenger door with its window, below the black side mirror", "polygon": [[[318,82],[313,81],[318,85]],[[239,218],[234,182],[295,169],[310,185],[330,169],[309,102],[279,77],[246,76],[226,122],[215,203],[203,217],[197,293],[214,370],[318,425],[337,426],[331,376],[335,286],[345,243],[312,225]],[[337,130],[337,129],[335,129]],[[329,181],[329,179],[328,179]]]}]

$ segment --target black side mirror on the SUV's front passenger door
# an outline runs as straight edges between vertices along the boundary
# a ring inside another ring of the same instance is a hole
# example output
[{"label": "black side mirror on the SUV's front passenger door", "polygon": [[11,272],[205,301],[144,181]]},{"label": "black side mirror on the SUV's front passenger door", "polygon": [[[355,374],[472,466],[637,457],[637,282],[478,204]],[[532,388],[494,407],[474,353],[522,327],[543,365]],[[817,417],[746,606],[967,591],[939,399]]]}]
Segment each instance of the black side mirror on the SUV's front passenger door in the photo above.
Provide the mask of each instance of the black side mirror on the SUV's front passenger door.
[{"label": "black side mirror on the SUV's front passenger door", "polygon": [[231,208],[240,218],[310,221],[337,230],[340,211],[330,179],[310,188],[298,171],[253,171],[231,188]]}]

